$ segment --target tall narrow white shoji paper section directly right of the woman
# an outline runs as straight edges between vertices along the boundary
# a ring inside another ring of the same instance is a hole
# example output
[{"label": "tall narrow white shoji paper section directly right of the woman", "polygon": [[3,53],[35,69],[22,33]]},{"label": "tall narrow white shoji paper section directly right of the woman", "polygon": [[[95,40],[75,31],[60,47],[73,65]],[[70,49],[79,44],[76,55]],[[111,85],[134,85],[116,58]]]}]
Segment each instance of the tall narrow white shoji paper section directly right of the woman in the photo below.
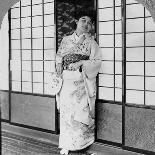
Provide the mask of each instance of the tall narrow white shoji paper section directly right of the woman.
[{"label": "tall narrow white shoji paper section directly right of the woman", "polygon": [[99,99],[122,101],[121,0],[99,0],[99,46],[102,68]]}]

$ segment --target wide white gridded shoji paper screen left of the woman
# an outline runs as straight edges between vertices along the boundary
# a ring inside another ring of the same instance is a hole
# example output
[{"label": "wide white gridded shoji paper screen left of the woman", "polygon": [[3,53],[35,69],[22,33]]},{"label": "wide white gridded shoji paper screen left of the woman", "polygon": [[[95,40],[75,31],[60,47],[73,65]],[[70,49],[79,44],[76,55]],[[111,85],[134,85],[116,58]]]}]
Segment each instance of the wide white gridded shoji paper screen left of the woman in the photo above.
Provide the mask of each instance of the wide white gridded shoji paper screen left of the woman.
[{"label": "wide white gridded shoji paper screen left of the woman", "polygon": [[22,0],[11,8],[12,91],[51,94],[55,53],[54,0]]}]

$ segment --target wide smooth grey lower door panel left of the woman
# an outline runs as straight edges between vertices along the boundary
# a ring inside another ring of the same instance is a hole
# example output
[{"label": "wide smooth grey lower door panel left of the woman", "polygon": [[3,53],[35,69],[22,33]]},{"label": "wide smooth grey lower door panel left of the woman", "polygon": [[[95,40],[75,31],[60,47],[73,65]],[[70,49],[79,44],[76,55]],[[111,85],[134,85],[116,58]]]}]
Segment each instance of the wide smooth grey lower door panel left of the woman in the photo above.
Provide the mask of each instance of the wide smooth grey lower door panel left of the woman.
[{"label": "wide smooth grey lower door panel left of the woman", "polygon": [[55,131],[55,98],[11,94],[11,122]]}]

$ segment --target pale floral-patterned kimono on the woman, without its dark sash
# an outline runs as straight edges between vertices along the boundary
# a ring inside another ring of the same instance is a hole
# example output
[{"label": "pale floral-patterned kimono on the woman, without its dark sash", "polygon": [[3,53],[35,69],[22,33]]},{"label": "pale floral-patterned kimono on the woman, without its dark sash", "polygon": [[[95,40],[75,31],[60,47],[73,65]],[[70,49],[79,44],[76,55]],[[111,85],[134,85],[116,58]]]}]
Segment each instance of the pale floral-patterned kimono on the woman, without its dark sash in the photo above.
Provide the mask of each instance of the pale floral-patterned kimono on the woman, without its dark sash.
[{"label": "pale floral-patterned kimono on the woman, without its dark sash", "polygon": [[[101,55],[97,43],[88,37],[81,46],[77,46],[75,33],[63,38],[56,56],[56,63],[62,63],[67,54],[89,56],[85,60],[82,72],[63,70],[63,86],[57,94],[57,107],[60,109],[59,147],[68,150],[80,150],[94,142],[94,112],[96,98],[96,75],[101,64]],[[90,68],[91,67],[91,68]],[[92,82],[93,81],[93,82]],[[94,95],[89,94],[89,88]]]}]

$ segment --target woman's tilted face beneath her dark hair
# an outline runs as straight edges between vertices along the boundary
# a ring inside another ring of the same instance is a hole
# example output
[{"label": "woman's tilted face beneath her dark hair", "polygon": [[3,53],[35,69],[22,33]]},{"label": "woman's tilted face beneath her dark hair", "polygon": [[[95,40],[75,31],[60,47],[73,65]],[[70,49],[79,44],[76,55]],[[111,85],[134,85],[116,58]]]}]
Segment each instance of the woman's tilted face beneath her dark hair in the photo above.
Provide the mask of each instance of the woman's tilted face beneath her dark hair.
[{"label": "woman's tilted face beneath her dark hair", "polygon": [[92,28],[92,22],[90,17],[83,16],[77,21],[77,30],[81,33],[88,33]]}]

